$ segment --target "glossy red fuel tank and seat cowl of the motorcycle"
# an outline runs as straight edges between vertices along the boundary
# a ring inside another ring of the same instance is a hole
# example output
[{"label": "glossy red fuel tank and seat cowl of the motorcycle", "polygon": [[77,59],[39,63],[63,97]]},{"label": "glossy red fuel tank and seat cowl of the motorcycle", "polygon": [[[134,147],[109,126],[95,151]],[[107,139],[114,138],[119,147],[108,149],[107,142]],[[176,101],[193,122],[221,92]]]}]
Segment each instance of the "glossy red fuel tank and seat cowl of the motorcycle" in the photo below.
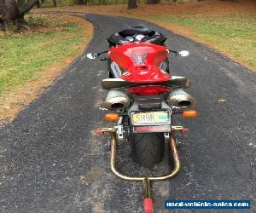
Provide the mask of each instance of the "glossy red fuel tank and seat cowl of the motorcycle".
[{"label": "glossy red fuel tank and seat cowl of the motorcycle", "polygon": [[160,70],[160,63],[166,59],[168,49],[154,43],[127,43],[109,49],[109,57],[127,72],[121,75],[126,81],[154,83],[170,79]]}]

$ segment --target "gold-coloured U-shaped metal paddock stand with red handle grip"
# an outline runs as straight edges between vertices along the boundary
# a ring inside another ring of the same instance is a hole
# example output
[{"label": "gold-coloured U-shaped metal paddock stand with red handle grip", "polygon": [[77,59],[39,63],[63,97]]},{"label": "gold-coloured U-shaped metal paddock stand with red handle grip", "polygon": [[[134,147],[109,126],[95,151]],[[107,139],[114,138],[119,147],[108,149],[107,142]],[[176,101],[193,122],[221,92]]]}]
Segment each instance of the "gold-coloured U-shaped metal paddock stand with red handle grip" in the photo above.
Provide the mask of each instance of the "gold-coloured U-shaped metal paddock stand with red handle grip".
[{"label": "gold-coloured U-shaped metal paddock stand with red handle grip", "polygon": [[124,179],[125,181],[143,181],[143,193],[144,193],[144,212],[153,213],[153,200],[151,199],[150,186],[151,181],[165,181],[166,179],[176,176],[180,170],[180,161],[177,154],[176,141],[174,139],[174,130],[182,130],[183,127],[172,127],[172,133],[170,135],[170,147],[173,158],[173,169],[166,174],[165,176],[125,176],[121,174],[116,168],[116,149],[117,149],[117,138],[116,138],[116,128],[102,128],[102,133],[108,133],[111,136],[111,154],[110,154],[110,168],[113,171],[113,174],[119,176],[119,178]]}]

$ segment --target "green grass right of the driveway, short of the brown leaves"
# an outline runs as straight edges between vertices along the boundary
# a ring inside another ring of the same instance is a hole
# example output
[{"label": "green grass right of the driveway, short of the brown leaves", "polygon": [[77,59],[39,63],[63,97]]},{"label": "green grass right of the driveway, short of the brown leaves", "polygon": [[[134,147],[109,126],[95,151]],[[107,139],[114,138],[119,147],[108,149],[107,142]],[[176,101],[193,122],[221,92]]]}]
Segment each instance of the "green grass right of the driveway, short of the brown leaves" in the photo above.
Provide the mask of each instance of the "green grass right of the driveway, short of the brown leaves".
[{"label": "green grass right of the driveway, short of the brown leaves", "polygon": [[150,16],[179,26],[189,27],[192,37],[200,38],[224,50],[250,67],[256,67],[256,14]]}]

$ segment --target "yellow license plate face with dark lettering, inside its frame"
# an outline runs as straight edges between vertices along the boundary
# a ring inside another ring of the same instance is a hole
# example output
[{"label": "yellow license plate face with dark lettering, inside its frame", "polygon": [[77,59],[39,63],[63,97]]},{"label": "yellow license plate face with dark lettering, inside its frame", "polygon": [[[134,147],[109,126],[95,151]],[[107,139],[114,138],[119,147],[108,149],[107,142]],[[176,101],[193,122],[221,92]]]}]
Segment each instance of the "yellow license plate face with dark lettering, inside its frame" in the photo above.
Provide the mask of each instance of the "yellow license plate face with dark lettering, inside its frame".
[{"label": "yellow license plate face with dark lettering, inside its frame", "polygon": [[166,123],[169,120],[168,112],[135,112],[131,116],[135,124]]}]

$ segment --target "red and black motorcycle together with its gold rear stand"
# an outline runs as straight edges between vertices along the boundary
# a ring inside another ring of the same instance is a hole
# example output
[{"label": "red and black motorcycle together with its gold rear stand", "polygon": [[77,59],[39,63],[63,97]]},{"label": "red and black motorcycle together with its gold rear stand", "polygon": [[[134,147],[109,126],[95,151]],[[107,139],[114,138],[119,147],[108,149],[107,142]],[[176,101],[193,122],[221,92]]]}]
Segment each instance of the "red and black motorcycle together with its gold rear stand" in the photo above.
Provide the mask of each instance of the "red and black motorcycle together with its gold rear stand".
[{"label": "red and black motorcycle together with its gold rear stand", "polygon": [[[180,162],[177,154],[175,132],[186,132],[183,126],[172,125],[172,116],[195,118],[195,99],[183,91],[190,81],[172,76],[167,55],[187,56],[188,51],[177,52],[165,45],[166,37],[160,32],[135,26],[108,37],[109,49],[88,54],[90,59],[108,53],[109,78],[102,80],[108,89],[104,106],[110,111],[105,120],[117,122],[114,127],[97,130],[98,134],[111,135],[111,170],[127,181],[143,181],[144,212],[153,212],[150,181],[163,181],[177,175]],[[116,149],[120,143],[131,144],[131,158],[137,164],[152,168],[164,157],[165,144],[171,147],[172,170],[165,176],[125,176],[116,169]]]}]

